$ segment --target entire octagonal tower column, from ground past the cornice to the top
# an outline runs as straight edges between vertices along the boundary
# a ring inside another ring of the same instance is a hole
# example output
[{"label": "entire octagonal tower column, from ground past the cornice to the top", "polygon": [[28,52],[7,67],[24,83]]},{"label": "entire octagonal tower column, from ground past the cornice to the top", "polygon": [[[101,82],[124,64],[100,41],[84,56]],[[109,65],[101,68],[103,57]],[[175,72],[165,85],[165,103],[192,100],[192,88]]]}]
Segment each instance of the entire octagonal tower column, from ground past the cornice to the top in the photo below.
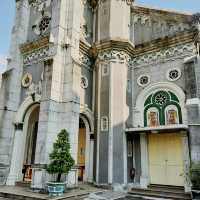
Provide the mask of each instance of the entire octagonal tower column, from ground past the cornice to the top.
[{"label": "entire octagonal tower column, from ground past the cornice to the top", "polygon": [[132,46],[129,42],[132,4],[128,0],[101,0],[96,11],[98,184],[127,182],[127,46]]}]

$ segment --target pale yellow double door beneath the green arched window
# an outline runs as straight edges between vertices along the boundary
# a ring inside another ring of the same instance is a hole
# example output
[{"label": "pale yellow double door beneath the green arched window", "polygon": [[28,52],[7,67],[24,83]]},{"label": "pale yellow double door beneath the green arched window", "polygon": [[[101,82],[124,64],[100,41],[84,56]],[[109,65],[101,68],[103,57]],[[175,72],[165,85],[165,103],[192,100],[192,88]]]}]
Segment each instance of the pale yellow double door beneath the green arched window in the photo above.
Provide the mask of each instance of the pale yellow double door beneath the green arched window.
[{"label": "pale yellow double door beneath the green arched window", "polygon": [[182,137],[178,134],[149,135],[151,184],[183,186]]}]

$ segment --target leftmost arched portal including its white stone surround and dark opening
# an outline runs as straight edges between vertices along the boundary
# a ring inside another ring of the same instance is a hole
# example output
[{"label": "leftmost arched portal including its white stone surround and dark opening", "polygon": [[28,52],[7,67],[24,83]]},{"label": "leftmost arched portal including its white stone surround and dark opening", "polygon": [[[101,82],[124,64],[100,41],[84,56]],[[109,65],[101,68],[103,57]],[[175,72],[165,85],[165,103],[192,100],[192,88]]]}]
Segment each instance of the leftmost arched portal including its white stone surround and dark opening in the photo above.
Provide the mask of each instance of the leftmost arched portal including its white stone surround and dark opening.
[{"label": "leftmost arched portal including its white stone surround and dark opening", "polygon": [[15,185],[16,182],[21,181],[30,182],[32,179],[31,164],[35,159],[39,110],[39,102],[33,103],[31,97],[28,97],[19,108],[15,124],[21,124],[21,126],[16,127],[15,130],[7,185]]}]

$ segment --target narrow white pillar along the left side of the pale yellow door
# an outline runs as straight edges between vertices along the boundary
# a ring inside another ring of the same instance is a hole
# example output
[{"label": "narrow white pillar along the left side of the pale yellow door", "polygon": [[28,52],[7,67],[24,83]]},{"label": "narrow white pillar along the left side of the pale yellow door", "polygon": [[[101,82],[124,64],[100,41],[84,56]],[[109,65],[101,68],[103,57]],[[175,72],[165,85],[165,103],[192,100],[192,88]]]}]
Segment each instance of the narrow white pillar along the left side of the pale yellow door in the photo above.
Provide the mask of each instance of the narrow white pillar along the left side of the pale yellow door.
[{"label": "narrow white pillar along the left side of the pale yellow door", "polygon": [[147,188],[149,184],[149,163],[148,163],[148,146],[146,133],[140,134],[140,149],[141,149],[141,177],[140,186]]}]

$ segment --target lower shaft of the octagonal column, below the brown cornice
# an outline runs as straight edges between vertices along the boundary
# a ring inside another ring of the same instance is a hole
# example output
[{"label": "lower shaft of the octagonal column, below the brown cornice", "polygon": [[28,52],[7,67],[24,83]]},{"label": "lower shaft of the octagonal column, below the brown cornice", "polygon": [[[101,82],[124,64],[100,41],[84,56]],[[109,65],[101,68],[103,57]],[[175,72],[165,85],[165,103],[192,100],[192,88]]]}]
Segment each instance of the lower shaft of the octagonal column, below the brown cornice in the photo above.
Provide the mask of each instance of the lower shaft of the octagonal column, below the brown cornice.
[{"label": "lower shaft of the octagonal column, below the brown cornice", "polygon": [[[119,56],[120,54],[120,56]],[[112,56],[111,56],[112,55]],[[107,58],[107,59],[105,59]],[[98,55],[98,181],[99,183],[126,182],[125,122],[127,64],[126,53],[112,50]],[[120,95],[119,95],[120,94]],[[118,167],[114,167],[118,166]]]}]

